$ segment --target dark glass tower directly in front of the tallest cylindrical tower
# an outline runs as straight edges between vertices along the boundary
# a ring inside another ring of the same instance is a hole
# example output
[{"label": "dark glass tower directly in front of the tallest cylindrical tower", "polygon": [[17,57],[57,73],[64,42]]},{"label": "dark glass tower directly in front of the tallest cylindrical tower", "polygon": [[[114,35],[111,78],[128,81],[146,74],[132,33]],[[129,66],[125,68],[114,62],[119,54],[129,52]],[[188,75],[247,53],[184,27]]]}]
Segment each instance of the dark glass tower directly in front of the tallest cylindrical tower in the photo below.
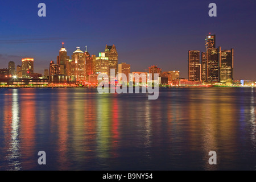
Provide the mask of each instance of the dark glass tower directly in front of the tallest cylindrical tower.
[{"label": "dark glass tower directly in front of the tallest cylindrical tower", "polygon": [[207,82],[218,82],[219,79],[218,48],[208,48],[207,52]]}]

